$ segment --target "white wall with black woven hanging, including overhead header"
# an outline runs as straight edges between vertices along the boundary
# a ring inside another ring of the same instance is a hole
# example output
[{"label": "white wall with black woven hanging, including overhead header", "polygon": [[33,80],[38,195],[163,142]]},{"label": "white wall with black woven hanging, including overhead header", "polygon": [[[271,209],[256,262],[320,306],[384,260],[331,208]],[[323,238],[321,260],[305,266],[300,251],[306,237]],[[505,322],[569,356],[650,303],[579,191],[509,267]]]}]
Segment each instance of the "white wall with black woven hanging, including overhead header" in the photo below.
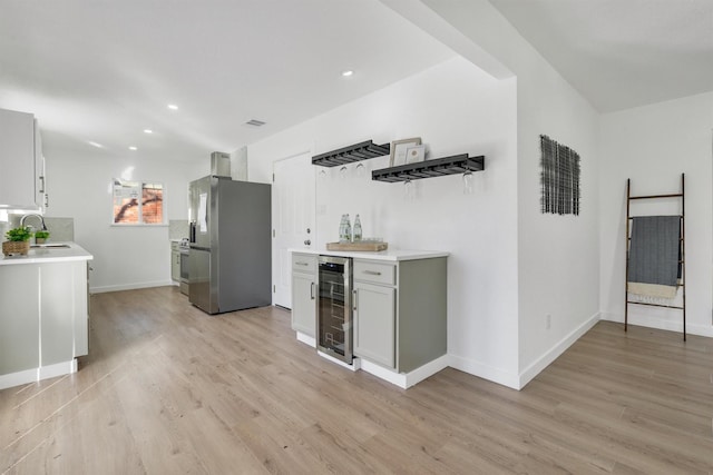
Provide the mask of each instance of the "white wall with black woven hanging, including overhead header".
[{"label": "white wall with black woven hanging, including overhead header", "polygon": [[[517,77],[521,387],[598,319],[598,115],[488,1],[421,1]],[[579,216],[540,212],[540,135],[582,158]]]}]

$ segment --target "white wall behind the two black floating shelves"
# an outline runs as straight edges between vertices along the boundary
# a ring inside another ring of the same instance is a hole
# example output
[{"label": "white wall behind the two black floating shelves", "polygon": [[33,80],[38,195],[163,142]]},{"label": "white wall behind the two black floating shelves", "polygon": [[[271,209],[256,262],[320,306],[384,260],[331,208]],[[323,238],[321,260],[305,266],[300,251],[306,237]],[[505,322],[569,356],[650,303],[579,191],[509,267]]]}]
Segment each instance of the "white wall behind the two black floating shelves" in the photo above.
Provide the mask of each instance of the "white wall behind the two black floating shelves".
[{"label": "white wall behind the two black floating shelves", "polygon": [[462,58],[248,146],[251,179],[265,180],[273,161],[373,139],[421,137],[428,158],[486,156],[465,195],[460,175],[403,184],[371,180],[389,158],[356,164],[346,177],[325,169],[316,180],[316,244],[336,239],[340,216],[361,215],[364,232],[390,247],[437,249],[448,259],[448,353],[451,366],[517,387],[516,83],[499,81]]}]

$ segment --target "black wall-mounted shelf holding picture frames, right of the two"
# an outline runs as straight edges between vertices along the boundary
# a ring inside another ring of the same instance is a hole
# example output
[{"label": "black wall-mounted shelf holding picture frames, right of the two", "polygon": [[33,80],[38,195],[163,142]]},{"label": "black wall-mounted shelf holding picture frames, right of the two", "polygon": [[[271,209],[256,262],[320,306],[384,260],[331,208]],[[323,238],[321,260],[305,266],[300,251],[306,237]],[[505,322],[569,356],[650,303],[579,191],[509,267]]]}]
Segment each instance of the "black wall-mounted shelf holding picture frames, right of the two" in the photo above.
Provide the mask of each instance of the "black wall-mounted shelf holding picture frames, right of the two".
[{"label": "black wall-mounted shelf holding picture frames, right of the two", "polygon": [[442,177],[446,175],[465,174],[466,171],[485,170],[485,156],[468,157],[468,154],[453,155],[418,164],[400,165],[398,167],[373,170],[371,179],[378,181],[397,182],[418,180],[419,178]]}]

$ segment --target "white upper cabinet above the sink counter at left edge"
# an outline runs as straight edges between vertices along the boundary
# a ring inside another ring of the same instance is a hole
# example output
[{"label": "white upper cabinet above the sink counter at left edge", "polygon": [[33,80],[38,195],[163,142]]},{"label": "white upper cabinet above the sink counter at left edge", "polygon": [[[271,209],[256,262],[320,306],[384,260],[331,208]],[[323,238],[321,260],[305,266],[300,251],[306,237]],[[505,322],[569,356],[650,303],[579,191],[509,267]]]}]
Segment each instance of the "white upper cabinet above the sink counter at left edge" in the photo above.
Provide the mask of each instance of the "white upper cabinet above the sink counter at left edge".
[{"label": "white upper cabinet above the sink counter at left edge", "polygon": [[43,177],[45,159],[35,117],[0,109],[0,208],[42,208]]}]

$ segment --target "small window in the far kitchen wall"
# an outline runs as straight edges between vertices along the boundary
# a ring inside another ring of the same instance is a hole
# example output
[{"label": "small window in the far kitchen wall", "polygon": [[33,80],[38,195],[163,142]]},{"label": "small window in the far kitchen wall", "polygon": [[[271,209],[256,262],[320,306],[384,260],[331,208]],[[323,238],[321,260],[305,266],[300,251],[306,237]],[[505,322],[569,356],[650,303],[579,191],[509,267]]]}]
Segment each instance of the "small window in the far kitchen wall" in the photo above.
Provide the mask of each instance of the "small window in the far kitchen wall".
[{"label": "small window in the far kitchen wall", "polygon": [[163,225],[164,186],[114,179],[115,225]]}]

